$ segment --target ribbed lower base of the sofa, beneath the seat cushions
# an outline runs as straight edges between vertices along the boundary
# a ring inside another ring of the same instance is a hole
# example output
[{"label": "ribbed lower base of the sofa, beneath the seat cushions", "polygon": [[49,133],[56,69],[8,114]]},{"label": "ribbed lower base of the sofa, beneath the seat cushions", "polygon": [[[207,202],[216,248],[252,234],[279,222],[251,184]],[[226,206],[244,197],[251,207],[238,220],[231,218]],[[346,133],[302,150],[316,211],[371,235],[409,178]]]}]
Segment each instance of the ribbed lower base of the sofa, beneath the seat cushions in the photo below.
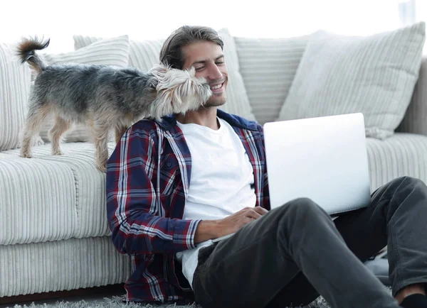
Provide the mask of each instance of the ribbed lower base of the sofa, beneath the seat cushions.
[{"label": "ribbed lower base of the sofa, beneath the seat cushions", "polygon": [[[130,256],[118,253],[110,236],[2,246],[0,299],[4,296],[114,285],[125,282],[131,273]],[[61,306],[54,304],[51,307]],[[73,304],[71,307],[82,306]],[[5,306],[1,304],[1,307]]]}]

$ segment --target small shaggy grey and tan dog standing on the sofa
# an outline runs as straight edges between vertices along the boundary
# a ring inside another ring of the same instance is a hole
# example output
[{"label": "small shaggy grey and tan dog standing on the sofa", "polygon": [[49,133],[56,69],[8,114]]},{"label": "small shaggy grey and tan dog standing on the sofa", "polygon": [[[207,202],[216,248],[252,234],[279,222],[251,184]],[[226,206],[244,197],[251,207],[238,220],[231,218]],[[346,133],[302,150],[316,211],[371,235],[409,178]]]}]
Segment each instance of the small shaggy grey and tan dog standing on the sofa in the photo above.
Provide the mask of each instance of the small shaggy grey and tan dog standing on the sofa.
[{"label": "small shaggy grey and tan dog standing on the sofa", "polygon": [[144,118],[161,120],[170,114],[199,109],[211,97],[204,78],[195,70],[177,70],[154,65],[148,72],[107,65],[46,65],[35,50],[50,40],[23,39],[17,45],[21,63],[28,62],[36,75],[28,99],[28,114],[21,131],[21,157],[31,158],[33,137],[43,120],[53,114],[55,124],[48,133],[53,155],[63,155],[61,136],[74,123],[85,123],[93,134],[95,164],[105,172],[107,138],[115,130],[115,142],[133,123]]}]

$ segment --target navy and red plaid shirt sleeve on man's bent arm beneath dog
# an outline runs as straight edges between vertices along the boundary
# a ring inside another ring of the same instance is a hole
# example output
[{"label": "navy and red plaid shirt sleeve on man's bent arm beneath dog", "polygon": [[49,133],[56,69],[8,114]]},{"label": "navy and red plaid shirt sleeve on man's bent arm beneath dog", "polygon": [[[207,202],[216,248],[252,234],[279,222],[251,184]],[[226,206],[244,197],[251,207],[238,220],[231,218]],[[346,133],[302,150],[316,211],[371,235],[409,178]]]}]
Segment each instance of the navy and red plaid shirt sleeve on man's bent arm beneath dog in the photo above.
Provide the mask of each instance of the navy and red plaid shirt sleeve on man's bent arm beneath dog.
[{"label": "navy and red plaid shirt sleeve on man's bent arm beneath dog", "polygon": [[112,243],[122,254],[176,253],[195,248],[194,236],[201,220],[157,214],[156,187],[151,180],[157,170],[154,138],[149,130],[131,126],[107,162],[107,220]]}]

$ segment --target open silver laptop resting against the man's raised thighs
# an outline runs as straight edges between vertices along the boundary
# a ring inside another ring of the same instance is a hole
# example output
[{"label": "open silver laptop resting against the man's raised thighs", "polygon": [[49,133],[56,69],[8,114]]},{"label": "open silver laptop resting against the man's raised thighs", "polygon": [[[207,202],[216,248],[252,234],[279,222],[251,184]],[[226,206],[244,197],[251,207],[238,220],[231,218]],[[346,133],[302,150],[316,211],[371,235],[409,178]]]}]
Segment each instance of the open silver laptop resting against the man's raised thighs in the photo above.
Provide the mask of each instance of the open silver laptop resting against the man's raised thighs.
[{"label": "open silver laptop resting against the man's raised thighs", "polygon": [[271,209],[299,197],[331,216],[369,204],[363,114],[265,123],[264,137]]}]

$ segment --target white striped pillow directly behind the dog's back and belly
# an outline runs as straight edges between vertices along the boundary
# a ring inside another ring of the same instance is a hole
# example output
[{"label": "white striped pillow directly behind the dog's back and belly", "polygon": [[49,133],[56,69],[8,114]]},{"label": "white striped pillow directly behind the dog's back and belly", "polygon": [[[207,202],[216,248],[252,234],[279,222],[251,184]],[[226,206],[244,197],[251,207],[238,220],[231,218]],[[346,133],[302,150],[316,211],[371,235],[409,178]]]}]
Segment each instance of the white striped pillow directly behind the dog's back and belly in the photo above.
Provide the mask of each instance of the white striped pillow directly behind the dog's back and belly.
[{"label": "white striped pillow directly behind the dog's back and belly", "polygon": [[[118,38],[109,38],[90,44],[80,50],[70,53],[44,54],[42,55],[48,65],[63,63],[79,63],[88,65],[115,65],[127,67],[129,57],[129,37],[122,35]],[[48,141],[48,131],[53,126],[53,116],[46,119],[40,132],[43,141]],[[65,142],[90,141],[90,133],[85,124],[77,124],[70,128],[64,135]]]}]

